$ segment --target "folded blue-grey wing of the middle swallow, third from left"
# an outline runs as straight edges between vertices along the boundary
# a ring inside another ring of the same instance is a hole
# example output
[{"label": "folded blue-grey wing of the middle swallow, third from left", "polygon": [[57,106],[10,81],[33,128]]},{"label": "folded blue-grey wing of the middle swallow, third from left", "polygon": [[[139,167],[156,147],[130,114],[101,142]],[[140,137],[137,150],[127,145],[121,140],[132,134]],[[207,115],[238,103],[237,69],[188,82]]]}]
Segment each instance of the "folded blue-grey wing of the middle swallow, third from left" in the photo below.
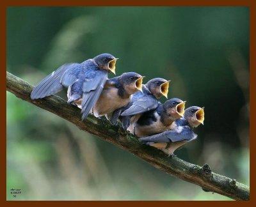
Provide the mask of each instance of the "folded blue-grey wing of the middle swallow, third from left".
[{"label": "folded blue-grey wing of the middle swallow, third from left", "polygon": [[158,101],[154,96],[145,95],[135,100],[129,109],[122,112],[121,116],[132,116],[156,109]]}]

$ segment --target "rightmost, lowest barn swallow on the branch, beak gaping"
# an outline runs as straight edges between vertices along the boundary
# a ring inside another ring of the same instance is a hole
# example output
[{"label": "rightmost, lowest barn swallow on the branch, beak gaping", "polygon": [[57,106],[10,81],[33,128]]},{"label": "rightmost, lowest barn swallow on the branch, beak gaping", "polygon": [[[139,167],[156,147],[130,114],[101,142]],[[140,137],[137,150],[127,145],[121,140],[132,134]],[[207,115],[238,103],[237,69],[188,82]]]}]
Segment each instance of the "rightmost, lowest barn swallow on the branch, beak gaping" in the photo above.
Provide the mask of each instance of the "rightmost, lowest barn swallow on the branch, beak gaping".
[{"label": "rightmost, lowest barn swallow on the branch, beak gaping", "polygon": [[168,156],[174,156],[173,152],[177,148],[196,139],[193,128],[200,124],[204,125],[204,107],[189,107],[184,112],[184,118],[175,121],[172,130],[140,138],[140,141],[162,150]]}]

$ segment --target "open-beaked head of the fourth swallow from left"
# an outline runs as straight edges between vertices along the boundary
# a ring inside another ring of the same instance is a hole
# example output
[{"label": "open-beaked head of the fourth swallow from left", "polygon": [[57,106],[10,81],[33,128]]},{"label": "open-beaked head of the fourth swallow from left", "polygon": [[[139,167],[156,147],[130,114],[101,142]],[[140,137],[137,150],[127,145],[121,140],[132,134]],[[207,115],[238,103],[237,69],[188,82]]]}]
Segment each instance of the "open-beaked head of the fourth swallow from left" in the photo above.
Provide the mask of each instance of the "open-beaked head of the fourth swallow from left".
[{"label": "open-beaked head of the fourth swallow from left", "polygon": [[179,98],[171,98],[164,103],[164,111],[172,121],[175,121],[183,117],[185,104],[186,101],[182,101]]}]

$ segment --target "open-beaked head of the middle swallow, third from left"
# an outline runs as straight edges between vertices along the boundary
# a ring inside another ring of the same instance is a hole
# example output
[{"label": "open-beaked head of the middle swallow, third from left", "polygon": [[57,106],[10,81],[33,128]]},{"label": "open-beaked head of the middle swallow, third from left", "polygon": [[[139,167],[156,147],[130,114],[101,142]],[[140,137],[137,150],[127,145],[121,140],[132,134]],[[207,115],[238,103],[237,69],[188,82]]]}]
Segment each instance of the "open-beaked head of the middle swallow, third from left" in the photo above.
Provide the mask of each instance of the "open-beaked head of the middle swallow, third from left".
[{"label": "open-beaked head of the middle swallow, third from left", "polygon": [[149,91],[156,97],[161,98],[161,96],[168,97],[168,89],[169,89],[169,82],[165,79],[156,78],[151,79],[147,82],[146,86]]}]

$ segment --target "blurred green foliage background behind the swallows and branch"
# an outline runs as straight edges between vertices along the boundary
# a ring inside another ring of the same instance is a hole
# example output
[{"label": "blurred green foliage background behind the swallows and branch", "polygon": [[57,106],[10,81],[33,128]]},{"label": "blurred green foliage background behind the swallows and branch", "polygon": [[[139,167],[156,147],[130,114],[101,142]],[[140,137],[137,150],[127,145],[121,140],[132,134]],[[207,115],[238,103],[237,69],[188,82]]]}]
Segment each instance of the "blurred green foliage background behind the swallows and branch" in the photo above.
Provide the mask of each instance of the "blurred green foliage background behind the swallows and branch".
[{"label": "blurred green foliage background behind the swallows and branch", "polygon": [[[63,63],[102,52],[120,58],[117,75],[170,79],[170,98],[204,106],[198,139],[177,156],[249,185],[248,8],[7,10],[7,70],[31,84]],[[228,199],[164,174],[11,93],[6,112],[8,200]],[[22,193],[13,198],[11,188]]]}]

